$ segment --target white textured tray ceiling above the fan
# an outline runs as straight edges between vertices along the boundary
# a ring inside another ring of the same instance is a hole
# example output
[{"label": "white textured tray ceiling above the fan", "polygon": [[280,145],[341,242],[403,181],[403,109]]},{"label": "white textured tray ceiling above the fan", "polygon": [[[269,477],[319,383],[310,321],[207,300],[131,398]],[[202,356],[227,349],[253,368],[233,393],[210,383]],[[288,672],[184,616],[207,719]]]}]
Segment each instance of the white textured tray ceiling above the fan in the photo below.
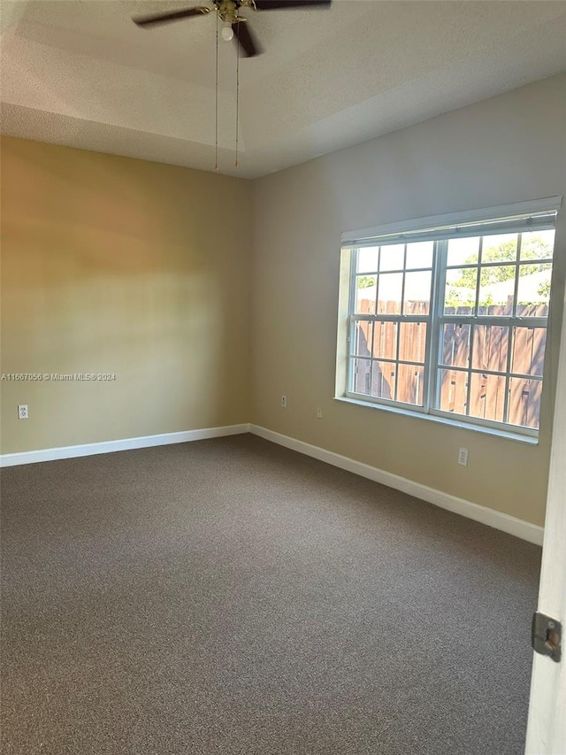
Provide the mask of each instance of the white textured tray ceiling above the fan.
[{"label": "white textured tray ceiling above the fan", "polygon": [[[2,131],[214,170],[213,14],[132,16],[207,0],[1,0]],[[566,70],[566,3],[334,0],[242,13],[264,54],[219,44],[220,172],[246,178]]]}]

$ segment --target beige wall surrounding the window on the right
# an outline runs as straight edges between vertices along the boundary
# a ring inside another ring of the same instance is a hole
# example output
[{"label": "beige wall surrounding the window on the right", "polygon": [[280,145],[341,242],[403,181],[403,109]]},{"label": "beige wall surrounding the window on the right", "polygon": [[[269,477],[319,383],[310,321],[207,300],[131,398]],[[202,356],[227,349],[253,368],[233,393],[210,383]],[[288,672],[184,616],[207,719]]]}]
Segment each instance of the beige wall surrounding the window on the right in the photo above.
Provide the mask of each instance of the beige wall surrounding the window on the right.
[{"label": "beige wall surrounding the window on the right", "polygon": [[566,212],[538,446],[333,400],[340,234],[566,194],[565,93],[556,76],[254,181],[252,422],[543,524]]}]

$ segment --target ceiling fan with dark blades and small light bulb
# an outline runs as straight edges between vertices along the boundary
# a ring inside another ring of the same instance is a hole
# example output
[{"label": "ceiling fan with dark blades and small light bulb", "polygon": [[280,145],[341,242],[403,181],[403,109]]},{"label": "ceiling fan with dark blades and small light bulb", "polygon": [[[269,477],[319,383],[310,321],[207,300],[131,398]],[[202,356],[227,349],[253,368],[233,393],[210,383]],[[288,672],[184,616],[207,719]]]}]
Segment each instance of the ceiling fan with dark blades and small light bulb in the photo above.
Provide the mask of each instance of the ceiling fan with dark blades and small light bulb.
[{"label": "ceiling fan with dark blades and small light bulb", "polygon": [[262,50],[255,35],[249,29],[248,19],[240,15],[242,8],[250,8],[253,11],[283,11],[306,8],[311,5],[328,6],[331,2],[332,0],[212,0],[212,8],[197,5],[194,8],[186,8],[184,11],[157,13],[157,15],[143,16],[133,20],[139,27],[153,27],[169,21],[205,16],[214,11],[223,24],[222,38],[229,42],[235,37],[240,42],[246,58],[254,58]]}]

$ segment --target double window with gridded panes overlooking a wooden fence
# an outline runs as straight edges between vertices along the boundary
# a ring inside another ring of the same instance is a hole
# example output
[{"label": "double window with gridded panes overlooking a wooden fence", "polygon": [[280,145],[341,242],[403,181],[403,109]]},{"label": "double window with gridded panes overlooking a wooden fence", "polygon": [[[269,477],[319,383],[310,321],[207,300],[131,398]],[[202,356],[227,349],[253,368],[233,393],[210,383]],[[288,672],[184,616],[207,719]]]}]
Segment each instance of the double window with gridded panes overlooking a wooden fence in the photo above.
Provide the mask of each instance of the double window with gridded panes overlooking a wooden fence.
[{"label": "double window with gridded panes overlooking a wooden fence", "polygon": [[538,435],[559,203],[533,204],[347,238],[341,394]]}]

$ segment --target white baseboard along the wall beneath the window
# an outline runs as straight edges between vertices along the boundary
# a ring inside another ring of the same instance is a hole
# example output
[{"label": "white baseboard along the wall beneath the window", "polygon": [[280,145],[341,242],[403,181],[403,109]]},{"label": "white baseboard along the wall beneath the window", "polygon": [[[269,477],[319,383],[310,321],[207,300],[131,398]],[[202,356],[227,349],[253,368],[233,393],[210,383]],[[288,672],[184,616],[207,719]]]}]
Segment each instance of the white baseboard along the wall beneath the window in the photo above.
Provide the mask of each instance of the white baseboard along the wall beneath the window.
[{"label": "white baseboard along the wall beneath the window", "polygon": [[441,490],[428,488],[426,485],[421,485],[419,482],[412,482],[411,480],[407,480],[397,474],[384,472],[382,469],[378,469],[375,466],[363,464],[361,461],[356,461],[347,456],[340,456],[339,453],[326,451],[324,448],[310,445],[310,443],[303,443],[302,441],[295,440],[287,435],[275,433],[273,430],[260,428],[257,425],[250,425],[249,432],[254,435],[259,435],[267,441],[272,441],[272,443],[279,443],[279,445],[285,446],[293,451],[299,451],[299,453],[303,453],[306,456],[317,458],[319,461],[325,461],[326,464],[339,466],[340,469],[346,469],[348,472],[359,474],[361,477],[367,477],[368,480],[380,482],[388,488],[401,490],[403,493],[408,493],[409,496],[421,498],[421,500],[426,501],[429,504],[440,506],[441,509],[447,509],[449,512],[455,512],[468,519],[479,521],[482,524],[486,524],[488,527],[501,529],[503,532],[520,537],[529,543],[542,545],[544,528],[538,527],[536,524],[517,519],[509,514],[496,512],[486,506],[472,504],[471,501],[466,501],[463,498],[450,496],[448,493],[443,493]]}]

